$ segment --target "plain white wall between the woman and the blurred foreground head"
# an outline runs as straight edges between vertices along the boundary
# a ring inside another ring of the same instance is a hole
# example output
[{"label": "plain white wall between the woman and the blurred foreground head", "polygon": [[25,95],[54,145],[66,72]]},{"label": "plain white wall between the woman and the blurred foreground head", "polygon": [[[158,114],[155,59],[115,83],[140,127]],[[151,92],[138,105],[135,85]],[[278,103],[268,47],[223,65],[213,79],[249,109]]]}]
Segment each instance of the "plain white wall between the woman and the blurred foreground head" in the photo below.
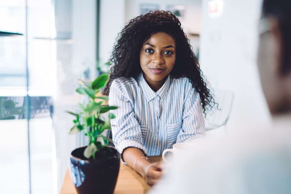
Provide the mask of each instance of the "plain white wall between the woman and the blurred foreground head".
[{"label": "plain white wall between the woman and the blurred foreground head", "polygon": [[218,18],[208,16],[202,3],[200,65],[215,88],[235,92],[228,129],[240,123],[270,121],[256,66],[260,0],[224,0]]}]

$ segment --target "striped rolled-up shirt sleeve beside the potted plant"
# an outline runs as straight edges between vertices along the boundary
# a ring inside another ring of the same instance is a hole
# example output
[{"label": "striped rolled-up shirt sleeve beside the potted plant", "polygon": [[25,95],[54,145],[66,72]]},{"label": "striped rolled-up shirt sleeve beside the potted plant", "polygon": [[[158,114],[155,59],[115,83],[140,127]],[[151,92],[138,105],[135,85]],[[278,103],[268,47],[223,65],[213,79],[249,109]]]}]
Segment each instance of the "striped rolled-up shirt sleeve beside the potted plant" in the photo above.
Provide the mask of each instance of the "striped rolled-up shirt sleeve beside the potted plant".
[{"label": "striped rolled-up shirt sleeve beside the potted plant", "polygon": [[136,147],[147,155],[144,147],[141,128],[135,118],[132,108],[132,99],[129,92],[122,82],[114,80],[110,86],[109,106],[118,106],[117,109],[110,112],[116,118],[111,120],[111,131],[113,143],[121,154],[121,161],[124,162],[122,153],[127,147]]}]

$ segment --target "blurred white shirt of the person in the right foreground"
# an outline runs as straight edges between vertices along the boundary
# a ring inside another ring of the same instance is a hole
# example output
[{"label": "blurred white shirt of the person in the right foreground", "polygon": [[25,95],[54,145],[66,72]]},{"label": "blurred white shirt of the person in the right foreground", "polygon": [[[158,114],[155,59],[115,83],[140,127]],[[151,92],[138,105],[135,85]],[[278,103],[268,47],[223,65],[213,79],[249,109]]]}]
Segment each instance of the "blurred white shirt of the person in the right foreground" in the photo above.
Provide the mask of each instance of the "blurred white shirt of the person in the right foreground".
[{"label": "blurred white shirt of the person in the right foreground", "polygon": [[[149,194],[291,193],[291,125],[205,139],[175,161]],[[256,132],[255,132],[256,131]]]}]

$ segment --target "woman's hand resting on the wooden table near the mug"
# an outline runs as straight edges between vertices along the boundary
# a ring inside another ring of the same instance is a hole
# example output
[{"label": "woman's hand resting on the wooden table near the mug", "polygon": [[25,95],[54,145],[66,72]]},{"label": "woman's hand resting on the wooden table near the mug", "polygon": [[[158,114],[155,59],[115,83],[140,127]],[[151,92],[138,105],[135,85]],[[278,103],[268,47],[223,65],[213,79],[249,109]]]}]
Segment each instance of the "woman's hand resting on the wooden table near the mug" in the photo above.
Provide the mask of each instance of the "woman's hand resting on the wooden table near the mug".
[{"label": "woman's hand resting on the wooden table near the mug", "polygon": [[148,185],[154,185],[162,176],[161,162],[152,163],[144,169],[145,180]]}]

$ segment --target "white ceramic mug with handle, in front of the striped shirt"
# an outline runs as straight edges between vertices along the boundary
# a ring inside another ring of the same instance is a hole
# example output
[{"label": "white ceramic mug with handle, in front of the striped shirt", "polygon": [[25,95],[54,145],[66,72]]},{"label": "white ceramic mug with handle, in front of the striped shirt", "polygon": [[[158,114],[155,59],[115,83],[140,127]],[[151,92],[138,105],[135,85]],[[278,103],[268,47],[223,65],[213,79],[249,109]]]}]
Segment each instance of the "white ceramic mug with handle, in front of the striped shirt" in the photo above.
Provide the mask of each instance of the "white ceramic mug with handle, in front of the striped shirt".
[{"label": "white ceramic mug with handle, in front of the striped shirt", "polygon": [[166,154],[171,152],[174,158],[180,158],[189,154],[189,150],[194,149],[194,144],[189,142],[176,143],[173,145],[173,149],[165,149],[162,153],[162,158],[164,162],[169,163],[170,161],[166,158]]}]

